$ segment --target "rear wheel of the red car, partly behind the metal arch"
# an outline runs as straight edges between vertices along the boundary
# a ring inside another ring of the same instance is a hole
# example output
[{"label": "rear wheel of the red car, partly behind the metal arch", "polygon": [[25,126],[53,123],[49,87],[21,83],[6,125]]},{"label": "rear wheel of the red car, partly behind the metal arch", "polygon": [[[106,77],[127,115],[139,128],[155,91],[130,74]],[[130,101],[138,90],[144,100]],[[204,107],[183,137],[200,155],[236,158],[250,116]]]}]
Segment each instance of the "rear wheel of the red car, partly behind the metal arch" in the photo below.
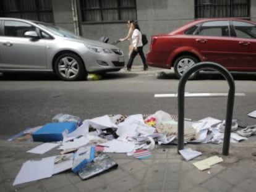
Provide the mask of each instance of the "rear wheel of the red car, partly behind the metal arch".
[{"label": "rear wheel of the red car, partly behind the metal arch", "polygon": [[[184,72],[186,72],[189,67],[192,67],[198,63],[198,59],[193,56],[181,56],[174,61],[174,73],[177,78],[181,78]],[[192,73],[189,77],[189,80],[195,79],[198,72]]]}]

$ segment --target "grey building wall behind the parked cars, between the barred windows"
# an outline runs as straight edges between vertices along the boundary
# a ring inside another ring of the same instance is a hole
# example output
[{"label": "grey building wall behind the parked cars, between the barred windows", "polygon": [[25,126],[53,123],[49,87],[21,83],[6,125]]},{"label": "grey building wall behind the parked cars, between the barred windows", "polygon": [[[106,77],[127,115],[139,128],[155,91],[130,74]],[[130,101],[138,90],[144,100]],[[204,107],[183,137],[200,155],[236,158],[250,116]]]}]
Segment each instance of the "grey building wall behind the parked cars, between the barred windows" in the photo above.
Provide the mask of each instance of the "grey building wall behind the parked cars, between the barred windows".
[{"label": "grey building wall behind the parked cars, between the barred windows", "polygon": [[[67,30],[74,31],[72,18],[72,0],[52,0],[54,21],[56,25],[64,27]],[[79,0],[77,0],[79,2]],[[151,35],[159,33],[169,33],[184,23],[194,20],[195,5],[192,0],[137,0],[137,20],[142,33],[145,33],[150,41]],[[250,9],[251,19],[256,21],[256,1],[251,1]],[[126,23],[100,23],[87,24],[81,23],[80,31],[82,36],[92,40],[99,40],[101,36],[108,36],[109,43],[113,43],[119,38],[127,35]],[[125,53],[125,59],[128,60],[129,42],[117,44]],[[145,54],[148,51],[147,44],[144,48]],[[138,63],[140,59],[135,59]]]}]

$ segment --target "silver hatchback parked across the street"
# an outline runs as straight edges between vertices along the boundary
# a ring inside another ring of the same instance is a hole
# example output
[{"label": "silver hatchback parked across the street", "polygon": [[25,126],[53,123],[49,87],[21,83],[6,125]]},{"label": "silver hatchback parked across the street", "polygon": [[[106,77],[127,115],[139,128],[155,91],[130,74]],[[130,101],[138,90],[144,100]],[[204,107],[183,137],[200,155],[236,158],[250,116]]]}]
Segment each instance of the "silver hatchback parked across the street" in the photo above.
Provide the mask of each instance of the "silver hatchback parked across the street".
[{"label": "silver hatchback parked across the street", "polygon": [[0,17],[0,72],[54,72],[62,80],[81,80],[123,67],[124,54],[112,44],[49,23]]}]

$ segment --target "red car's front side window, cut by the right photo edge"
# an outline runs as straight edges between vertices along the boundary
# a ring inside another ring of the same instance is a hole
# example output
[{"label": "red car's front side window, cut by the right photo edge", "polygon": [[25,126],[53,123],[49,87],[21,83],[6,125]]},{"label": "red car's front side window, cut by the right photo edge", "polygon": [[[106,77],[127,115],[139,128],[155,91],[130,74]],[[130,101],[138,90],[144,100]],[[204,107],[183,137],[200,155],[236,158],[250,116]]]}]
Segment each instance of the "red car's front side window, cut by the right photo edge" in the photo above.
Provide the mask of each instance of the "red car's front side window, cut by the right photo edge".
[{"label": "red car's front side window, cut by the right photo edge", "polygon": [[239,38],[256,38],[256,26],[247,22],[233,21],[236,36]]}]

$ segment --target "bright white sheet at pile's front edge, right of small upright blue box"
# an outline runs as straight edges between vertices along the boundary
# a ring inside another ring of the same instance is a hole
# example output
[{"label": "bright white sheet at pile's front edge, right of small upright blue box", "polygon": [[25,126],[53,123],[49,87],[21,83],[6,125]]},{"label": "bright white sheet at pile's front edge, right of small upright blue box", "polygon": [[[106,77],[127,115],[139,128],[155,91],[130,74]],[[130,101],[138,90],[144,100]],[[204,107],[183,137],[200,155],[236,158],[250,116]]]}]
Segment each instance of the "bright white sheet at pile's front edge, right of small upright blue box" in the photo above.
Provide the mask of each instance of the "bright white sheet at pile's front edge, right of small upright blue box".
[{"label": "bright white sheet at pile's front edge, right of small upright blue box", "polygon": [[124,142],[119,140],[111,140],[101,145],[105,146],[104,152],[131,152],[135,149],[134,142]]}]

